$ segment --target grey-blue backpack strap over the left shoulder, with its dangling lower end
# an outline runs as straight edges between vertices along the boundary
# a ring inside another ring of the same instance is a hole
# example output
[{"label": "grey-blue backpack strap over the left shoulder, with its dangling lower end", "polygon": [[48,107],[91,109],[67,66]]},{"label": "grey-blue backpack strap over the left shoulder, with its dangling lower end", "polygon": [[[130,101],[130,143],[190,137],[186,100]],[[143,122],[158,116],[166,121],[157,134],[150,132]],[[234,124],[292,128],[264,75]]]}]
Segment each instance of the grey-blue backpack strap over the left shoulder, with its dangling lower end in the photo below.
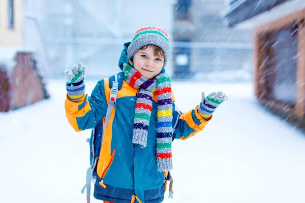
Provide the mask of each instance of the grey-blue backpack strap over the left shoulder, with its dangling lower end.
[{"label": "grey-blue backpack strap over the left shoulder, with its dangling lower end", "polygon": [[[107,112],[106,112],[106,116],[105,116],[105,124],[103,127],[104,129],[106,129],[106,127],[108,125],[112,109],[116,104],[117,92],[123,85],[123,76],[124,76],[124,73],[120,72],[109,78],[109,87],[111,88],[111,90],[110,90],[110,97],[109,97],[109,101],[108,101]],[[118,80],[121,80],[120,87],[119,87]],[[101,138],[102,142],[103,142],[104,133],[105,133],[104,129],[103,129],[103,134],[102,134],[102,138]],[[88,167],[87,173],[86,173],[86,185],[81,190],[81,193],[84,193],[85,188],[87,188],[86,189],[87,203],[90,203],[91,178],[92,178],[92,167],[90,166],[90,167]]]}]

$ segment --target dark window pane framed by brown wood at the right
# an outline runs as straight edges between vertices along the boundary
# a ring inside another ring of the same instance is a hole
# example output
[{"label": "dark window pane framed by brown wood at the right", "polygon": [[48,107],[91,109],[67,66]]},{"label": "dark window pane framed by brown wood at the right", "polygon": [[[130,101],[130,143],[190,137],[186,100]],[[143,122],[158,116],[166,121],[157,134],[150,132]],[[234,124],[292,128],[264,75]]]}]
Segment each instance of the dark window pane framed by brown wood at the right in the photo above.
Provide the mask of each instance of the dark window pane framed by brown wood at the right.
[{"label": "dark window pane framed by brown wood at the right", "polygon": [[296,104],[296,69],[298,58],[298,35],[291,27],[273,30],[268,33],[269,43],[266,48],[266,90],[269,98],[279,103],[295,106]]}]

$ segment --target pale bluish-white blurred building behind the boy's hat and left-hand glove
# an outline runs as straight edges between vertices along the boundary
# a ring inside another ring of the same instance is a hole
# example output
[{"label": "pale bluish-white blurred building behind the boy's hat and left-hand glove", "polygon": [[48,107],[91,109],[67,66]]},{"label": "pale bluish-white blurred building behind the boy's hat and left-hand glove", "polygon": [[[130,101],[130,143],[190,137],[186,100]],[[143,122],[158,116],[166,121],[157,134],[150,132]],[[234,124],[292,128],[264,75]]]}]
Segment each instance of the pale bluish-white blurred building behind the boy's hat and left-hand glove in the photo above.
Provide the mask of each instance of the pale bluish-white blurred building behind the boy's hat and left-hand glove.
[{"label": "pale bluish-white blurred building behind the boy's hat and left-hand glove", "polygon": [[[175,1],[45,1],[42,30],[52,76],[82,61],[86,77],[101,79],[117,73],[123,44],[143,26],[159,26],[171,35]],[[160,6],[162,5],[162,6]],[[167,64],[171,74],[172,62]]]}]

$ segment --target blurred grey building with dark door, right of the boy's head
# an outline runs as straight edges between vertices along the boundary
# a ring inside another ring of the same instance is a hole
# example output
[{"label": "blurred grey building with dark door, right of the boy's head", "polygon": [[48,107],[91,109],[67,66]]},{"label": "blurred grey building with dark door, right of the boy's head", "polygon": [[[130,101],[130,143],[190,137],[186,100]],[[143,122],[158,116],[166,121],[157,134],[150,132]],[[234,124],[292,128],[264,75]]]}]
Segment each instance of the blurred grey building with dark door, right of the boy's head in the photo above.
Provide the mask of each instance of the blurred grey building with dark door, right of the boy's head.
[{"label": "blurred grey building with dark door, right of the boy's head", "polygon": [[[224,0],[177,1],[173,59],[176,78],[251,78],[253,29],[225,26],[220,13],[226,5]],[[248,78],[239,77],[238,72],[245,72]]]}]

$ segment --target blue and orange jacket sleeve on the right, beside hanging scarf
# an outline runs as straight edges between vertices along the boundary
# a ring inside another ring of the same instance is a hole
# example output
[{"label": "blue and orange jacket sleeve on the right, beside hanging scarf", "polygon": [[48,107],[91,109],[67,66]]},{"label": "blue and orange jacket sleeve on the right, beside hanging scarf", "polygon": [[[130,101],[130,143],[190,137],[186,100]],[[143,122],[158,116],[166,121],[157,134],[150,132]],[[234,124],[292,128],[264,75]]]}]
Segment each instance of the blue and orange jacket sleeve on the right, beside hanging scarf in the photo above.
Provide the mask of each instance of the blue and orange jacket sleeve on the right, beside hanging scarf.
[{"label": "blue and orange jacket sleeve on the right, beside hanging scarf", "polygon": [[173,139],[186,140],[189,139],[199,131],[201,131],[206,124],[211,120],[204,120],[197,108],[189,112],[180,112],[173,103]]}]

